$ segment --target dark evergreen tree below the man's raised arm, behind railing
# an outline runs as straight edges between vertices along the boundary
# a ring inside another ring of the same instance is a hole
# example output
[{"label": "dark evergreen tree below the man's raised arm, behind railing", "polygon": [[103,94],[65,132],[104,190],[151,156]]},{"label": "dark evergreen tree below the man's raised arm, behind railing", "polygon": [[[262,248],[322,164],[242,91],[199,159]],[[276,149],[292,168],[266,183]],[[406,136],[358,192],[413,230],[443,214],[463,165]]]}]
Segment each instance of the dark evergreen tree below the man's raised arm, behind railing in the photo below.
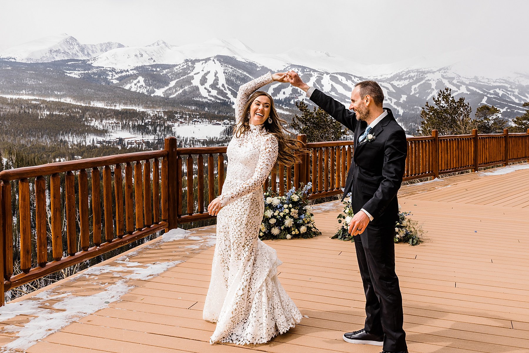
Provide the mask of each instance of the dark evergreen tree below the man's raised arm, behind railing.
[{"label": "dark evergreen tree below the man's raised arm, behind railing", "polygon": [[296,106],[301,115],[294,115],[290,126],[299,133],[307,135],[307,142],[336,141],[347,134],[342,130],[342,124],[334,120],[322,108],[311,109],[305,102],[298,101]]}]

